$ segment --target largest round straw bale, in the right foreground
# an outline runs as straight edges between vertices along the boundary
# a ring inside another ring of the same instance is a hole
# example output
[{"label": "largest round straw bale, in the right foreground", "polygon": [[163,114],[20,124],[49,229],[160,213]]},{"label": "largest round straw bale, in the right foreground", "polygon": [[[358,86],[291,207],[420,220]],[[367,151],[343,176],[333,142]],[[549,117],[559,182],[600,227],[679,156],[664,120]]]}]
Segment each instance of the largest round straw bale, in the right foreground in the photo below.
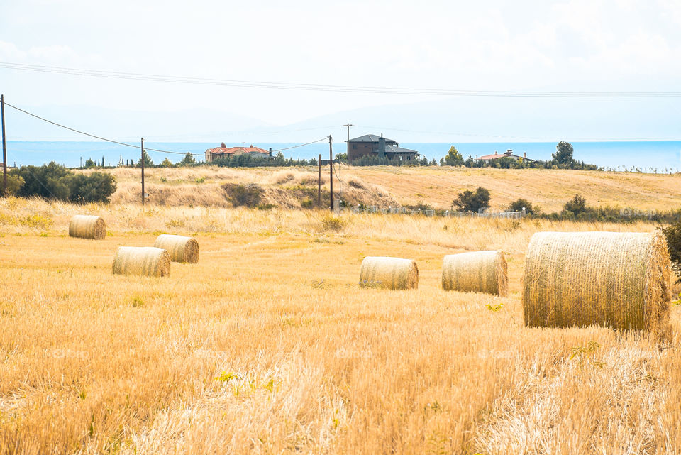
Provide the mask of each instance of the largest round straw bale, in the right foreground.
[{"label": "largest round straw bale, in the right foreground", "polygon": [[540,232],[525,258],[529,327],[669,329],[670,260],[660,232]]}]

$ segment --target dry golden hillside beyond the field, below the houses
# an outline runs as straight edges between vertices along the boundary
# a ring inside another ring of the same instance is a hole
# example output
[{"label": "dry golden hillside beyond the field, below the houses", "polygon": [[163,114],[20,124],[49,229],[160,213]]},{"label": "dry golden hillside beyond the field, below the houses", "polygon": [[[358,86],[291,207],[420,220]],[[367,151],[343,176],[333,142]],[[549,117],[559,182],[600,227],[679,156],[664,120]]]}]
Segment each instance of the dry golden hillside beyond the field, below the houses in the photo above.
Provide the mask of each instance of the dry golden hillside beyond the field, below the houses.
[{"label": "dry golden hillside beyond the field, below the houses", "polygon": [[[91,172],[91,171],[84,171]],[[116,176],[114,203],[135,202],[140,194],[140,171],[121,168]],[[430,204],[448,209],[458,192],[485,187],[492,194],[492,208],[504,209],[523,197],[555,212],[576,193],[591,205],[667,211],[681,201],[681,175],[653,175],[577,170],[506,170],[468,168],[353,168],[343,165],[341,182],[334,179],[349,204]],[[146,170],[150,202],[167,205],[229,207],[222,185],[257,184],[263,204],[300,207],[316,200],[317,168],[153,168]],[[328,167],[322,169],[324,196],[328,199]],[[325,199],[325,200],[326,200]]]}]

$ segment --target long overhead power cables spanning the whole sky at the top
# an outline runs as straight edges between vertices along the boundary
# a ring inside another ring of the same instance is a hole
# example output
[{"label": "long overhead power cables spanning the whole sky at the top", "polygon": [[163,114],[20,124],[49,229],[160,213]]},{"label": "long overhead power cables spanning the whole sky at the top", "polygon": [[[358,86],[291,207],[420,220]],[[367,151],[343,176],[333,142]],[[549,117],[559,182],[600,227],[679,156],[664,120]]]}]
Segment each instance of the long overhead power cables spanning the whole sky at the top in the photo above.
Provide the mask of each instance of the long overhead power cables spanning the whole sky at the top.
[{"label": "long overhead power cables spanning the whole sky at the top", "polygon": [[215,85],[226,87],[247,87],[261,89],[308,90],[316,92],[345,92],[372,94],[434,95],[453,97],[540,97],[540,98],[670,98],[681,97],[681,92],[561,92],[525,90],[465,90],[429,89],[409,87],[372,87],[358,85],[305,84],[294,82],[267,82],[253,80],[226,80],[204,77],[154,75],[134,72],[82,70],[69,67],[28,65],[23,63],[0,62],[0,68],[29,72],[48,72],[63,75],[104,77],[110,79],[143,80],[151,82],[173,82],[179,84]]}]

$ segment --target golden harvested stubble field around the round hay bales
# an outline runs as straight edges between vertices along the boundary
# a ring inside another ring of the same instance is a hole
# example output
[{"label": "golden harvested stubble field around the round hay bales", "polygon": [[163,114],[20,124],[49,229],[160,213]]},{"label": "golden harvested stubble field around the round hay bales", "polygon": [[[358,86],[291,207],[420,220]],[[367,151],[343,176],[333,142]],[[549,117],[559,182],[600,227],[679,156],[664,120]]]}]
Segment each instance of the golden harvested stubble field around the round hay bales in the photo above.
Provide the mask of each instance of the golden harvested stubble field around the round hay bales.
[{"label": "golden harvested stubble field around the round hay bales", "polygon": [[[93,242],[72,215],[104,216]],[[0,199],[0,454],[671,454],[681,320],[526,327],[540,231],[653,224]],[[118,246],[192,236],[197,264],[112,275]],[[502,250],[509,295],[441,289],[445,255]],[[419,287],[365,289],[366,256]],[[678,290],[675,290],[678,292]]]}]

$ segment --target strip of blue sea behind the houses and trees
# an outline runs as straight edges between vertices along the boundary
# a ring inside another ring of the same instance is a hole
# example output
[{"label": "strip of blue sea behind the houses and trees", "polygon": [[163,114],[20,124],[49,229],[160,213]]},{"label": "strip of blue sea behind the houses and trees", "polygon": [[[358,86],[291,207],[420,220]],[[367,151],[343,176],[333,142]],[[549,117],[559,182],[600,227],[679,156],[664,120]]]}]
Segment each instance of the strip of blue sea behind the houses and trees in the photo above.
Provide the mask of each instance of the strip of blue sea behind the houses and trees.
[{"label": "strip of blue sea behind the houses and trees", "polygon": [[[9,141],[7,143],[8,165],[42,165],[55,161],[67,168],[77,168],[85,160],[104,160],[106,165],[117,165],[119,160],[126,162],[140,157],[140,148],[135,144],[123,146],[116,143],[91,141]],[[227,144],[227,146],[248,146],[250,144]],[[282,150],[286,158],[310,159],[321,155],[328,158],[327,142],[299,146],[297,143],[256,143],[265,150],[272,148],[274,153]],[[195,153],[196,160],[202,160],[206,149],[219,146],[206,142],[146,142],[145,148],[167,150],[175,153],[148,151],[154,163],[165,158],[173,163],[182,160],[187,152]],[[527,154],[533,160],[550,160],[555,153],[555,142],[461,142],[461,143],[400,143],[401,147],[411,148],[428,160],[437,160],[455,146],[464,158],[489,155],[495,151],[504,153],[513,150],[514,155]],[[595,164],[614,170],[640,170],[641,172],[681,172],[681,141],[611,141],[611,142],[572,142],[574,158],[585,163]],[[345,153],[345,143],[333,143],[333,155]]]}]

